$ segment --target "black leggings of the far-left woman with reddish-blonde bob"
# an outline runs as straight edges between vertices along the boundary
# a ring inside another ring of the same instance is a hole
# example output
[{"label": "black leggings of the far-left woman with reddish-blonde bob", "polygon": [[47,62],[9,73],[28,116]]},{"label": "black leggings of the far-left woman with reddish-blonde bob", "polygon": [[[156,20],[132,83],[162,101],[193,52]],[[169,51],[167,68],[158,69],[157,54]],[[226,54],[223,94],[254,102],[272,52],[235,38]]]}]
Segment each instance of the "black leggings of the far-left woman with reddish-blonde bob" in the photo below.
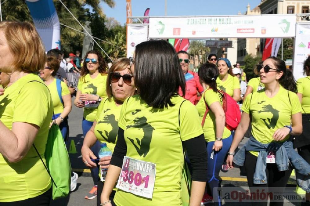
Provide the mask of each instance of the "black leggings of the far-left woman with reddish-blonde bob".
[{"label": "black leggings of the far-left woman with reddish-blonde bob", "polygon": [[48,206],[52,198],[52,187],[42,195],[15,202],[0,202],[0,206]]}]

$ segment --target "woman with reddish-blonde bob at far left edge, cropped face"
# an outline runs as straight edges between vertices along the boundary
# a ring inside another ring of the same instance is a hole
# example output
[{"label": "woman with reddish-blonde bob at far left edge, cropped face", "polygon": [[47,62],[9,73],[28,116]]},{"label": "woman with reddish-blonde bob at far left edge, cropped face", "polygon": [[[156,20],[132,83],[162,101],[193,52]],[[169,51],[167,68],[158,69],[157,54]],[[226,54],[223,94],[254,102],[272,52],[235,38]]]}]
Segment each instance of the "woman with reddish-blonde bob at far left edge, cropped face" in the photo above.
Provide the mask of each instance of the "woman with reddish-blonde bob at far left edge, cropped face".
[{"label": "woman with reddish-blonde bob at far left edge, cropped face", "polygon": [[44,45],[25,22],[0,22],[0,42],[0,71],[9,75],[0,89],[0,205],[49,205],[51,178],[32,146],[45,162],[53,103],[36,75],[46,61]]}]

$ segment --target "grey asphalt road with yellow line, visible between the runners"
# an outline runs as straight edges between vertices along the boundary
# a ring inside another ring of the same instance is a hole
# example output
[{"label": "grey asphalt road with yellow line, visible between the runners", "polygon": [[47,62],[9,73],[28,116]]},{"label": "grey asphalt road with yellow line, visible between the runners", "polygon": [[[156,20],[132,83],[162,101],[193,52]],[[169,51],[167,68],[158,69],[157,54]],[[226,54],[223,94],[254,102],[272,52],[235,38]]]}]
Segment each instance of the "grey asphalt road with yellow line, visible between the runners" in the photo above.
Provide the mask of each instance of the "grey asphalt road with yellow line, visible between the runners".
[{"label": "grey asphalt road with yellow line, visible between the runners", "polygon": [[[73,100],[73,99],[72,99]],[[70,143],[71,140],[74,141],[77,153],[75,154],[69,154],[70,160],[71,160],[71,166],[73,171],[76,171],[79,175],[78,178],[78,185],[75,191],[71,192],[68,197],[62,198],[60,200],[56,200],[52,202],[52,206],[95,206],[96,205],[96,199],[94,200],[86,200],[84,197],[87,195],[88,191],[91,190],[93,187],[93,182],[91,178],[91,174],[89,173],[89,170],[85,167],[85,165],[82,162],[81,157],[81,147],[83,144],[83,135],[82,135],[82,118],[83,118],[83,109],[79,109],[73,105],[72,111],[69,114],[69,128],[70,128],[70,134],[69,139],[67,141],[67,147],[68,151],[70,150]],[[244,144],[246,142],[247,138],[244,138],[240,145]],[[247,187],[246,177],[242,172],[240,172],[239,168],[235,168],[233,170],[229,170],[227,173],[220,172],[220,177],[223,178],[222,181],[222,187],[223,191],[228,188],[234,188],[236,191],[246,191],[249,188]],[[290,192],[291,194],[295,194],[294,190],[296,188],[294,177],[291,176],[291,179],[289,180],[288,187],[286,188],[287,192]],[[285,204],[287,206],[291,205],[299,205],[300,202],[294,202],[294,201],[288,201],[285,200]],[[139,204],[137,204],[139,205]],[[164,204],[163,204],[164,205]],[[169,204],[168,204],[169,205]],[[211,204],[207,204],[211,205]],[[229,206],[240,206],[240,205],[250,205],[249,202],[243,202],[241,203],[239,200],[235,200],[235,202],[224,202],[223,205]]]}]

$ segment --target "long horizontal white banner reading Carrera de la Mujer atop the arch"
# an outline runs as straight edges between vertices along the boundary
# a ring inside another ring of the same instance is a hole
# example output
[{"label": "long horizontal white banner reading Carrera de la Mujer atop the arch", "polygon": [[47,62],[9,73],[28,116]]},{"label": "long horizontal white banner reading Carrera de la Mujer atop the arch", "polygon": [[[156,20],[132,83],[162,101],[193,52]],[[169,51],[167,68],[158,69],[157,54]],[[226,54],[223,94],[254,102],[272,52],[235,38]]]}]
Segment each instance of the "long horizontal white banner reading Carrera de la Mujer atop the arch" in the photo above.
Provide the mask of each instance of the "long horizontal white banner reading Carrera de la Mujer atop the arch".
[{"label": "long horizontal white banner reading Carrera de la Mujer atop the arch", "polygon": [[149,38],[281,38],[295,36],[296,15],[151,17]]}]

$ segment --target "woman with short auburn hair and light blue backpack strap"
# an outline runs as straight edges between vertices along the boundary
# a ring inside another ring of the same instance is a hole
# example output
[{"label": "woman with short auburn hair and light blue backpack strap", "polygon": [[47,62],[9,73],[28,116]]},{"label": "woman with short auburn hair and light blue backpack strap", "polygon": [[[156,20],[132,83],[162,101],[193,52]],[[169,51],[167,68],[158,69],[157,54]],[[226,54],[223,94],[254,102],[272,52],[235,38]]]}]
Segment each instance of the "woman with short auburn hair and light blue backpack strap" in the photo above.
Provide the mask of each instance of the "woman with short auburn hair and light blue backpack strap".
[{"label": "woman with short auburn hair and light blue backpack strap", "polygon": [[54,105],[54,115],[52,119],[59,125],[61,134],[66,140],[69,136],[67,117],[72,109],[72,103],[67,85],[63,81],[60,81],[60,79],[54,78],[58,69],[59,61],[53,56],[48,57],[44,68],[40,70],[40,77],[51,92]]}]

